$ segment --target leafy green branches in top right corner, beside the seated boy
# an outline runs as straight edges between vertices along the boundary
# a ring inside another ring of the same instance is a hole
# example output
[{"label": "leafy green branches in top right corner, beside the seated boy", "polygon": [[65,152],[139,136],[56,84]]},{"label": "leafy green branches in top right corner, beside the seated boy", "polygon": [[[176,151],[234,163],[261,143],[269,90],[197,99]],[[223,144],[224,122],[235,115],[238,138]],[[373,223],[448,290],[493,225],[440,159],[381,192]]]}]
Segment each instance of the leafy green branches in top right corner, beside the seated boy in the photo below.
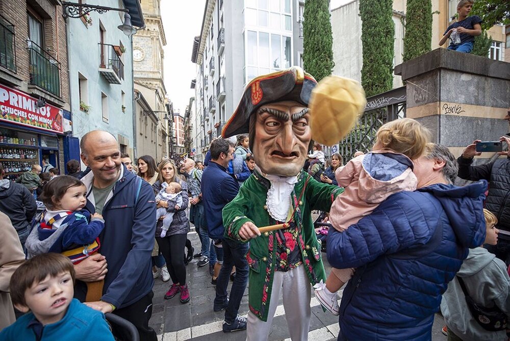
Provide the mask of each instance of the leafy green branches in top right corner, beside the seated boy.
[{"label": "leafy green branches in top right corner, beside the seated boy", "polygon": [[482,18],[481,28],[488,30],[497,23],[510,24],[510,1],[508,0],[476,0],[470,15]]}]

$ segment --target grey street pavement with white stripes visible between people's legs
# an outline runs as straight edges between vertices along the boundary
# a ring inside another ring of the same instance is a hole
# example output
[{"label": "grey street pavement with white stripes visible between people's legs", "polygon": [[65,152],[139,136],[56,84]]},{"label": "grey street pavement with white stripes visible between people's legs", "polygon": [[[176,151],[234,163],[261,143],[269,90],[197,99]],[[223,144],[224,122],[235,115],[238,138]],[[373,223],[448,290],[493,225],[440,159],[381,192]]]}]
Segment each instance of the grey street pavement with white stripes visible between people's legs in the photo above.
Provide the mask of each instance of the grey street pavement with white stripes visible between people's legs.
[{"label": "grey street pavement with white stripes visible between people's legs", "polygon": [[[200,244],[198,235],[194,232],[194,228],[192,228],[192,231],[188,234],[188,238],[191,240],[195,253],[198,252],[197,250],[200,249]],[[325,254],[323,253],[322,255],[326,274],[328,274],[331,267],[327,263]],[[197,267],[197,261],[198,259],[194,259],[187,266],[187,280],[191,299],[186,304],[182,304],[179,301],[179,295],[176,295],[170,300],[165,300],[163,298],[171,284],[171,280],[166,283],[161,280],[161,277],[155,280],[154,299],[152,300],[152,318],[149,324],[156,330],[158,340],[245,340],[246,331],[223,333],[222,324],[225,311],[213,312],[215,286],[211,284],[209,266]],[[231,285],[228,286],[228,292],[230,292],[230,286]],[[340,292],[340,298],[341,294]],[[336,340],[339,331],[338,316],[334,316],[329,312],[323,312],[313,293],[311,306],[312,319],[310,322],[309,341]],[[246,316],[247,313],[248,288],[246,288],[239,308],[239,314]],[[446,340],[446,336],[441,333],[442,327],[443,319],[439,314],[436,314],[436,319],[432,328],[433,341]],[[287,321],[285,319],[285,310],[281,298],[273,319],[269,340],[290,340]]]}]

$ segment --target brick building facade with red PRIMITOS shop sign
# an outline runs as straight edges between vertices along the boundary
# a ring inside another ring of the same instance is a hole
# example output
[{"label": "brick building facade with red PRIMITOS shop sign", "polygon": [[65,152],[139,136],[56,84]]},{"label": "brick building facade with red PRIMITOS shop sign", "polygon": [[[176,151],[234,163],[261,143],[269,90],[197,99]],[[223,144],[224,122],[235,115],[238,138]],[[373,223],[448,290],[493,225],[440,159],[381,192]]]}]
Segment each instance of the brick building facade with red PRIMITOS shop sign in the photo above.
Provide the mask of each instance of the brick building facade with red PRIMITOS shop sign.
[{"label": "brick building facade with red PRIMITOS shop sign", "polygon": [[71,113],[62,6],[0,0],[0,163],[14,180],[43,158],[62,169]]}]

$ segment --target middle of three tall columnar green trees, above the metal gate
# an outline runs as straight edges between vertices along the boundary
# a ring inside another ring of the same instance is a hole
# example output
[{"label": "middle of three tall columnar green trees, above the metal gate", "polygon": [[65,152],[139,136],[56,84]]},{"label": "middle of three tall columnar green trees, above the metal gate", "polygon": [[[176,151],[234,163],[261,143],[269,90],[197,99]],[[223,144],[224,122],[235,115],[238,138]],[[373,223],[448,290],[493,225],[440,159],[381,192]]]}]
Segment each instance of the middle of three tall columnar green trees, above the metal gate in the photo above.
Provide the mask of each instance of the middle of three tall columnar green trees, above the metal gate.
[{"label": "middle of three tall columnar green trees, above the metal gate", "polygon": [[360,0],[363,43],[361,84],[367,97],[393,87],[395,25],[392,5],[392,0]]}]

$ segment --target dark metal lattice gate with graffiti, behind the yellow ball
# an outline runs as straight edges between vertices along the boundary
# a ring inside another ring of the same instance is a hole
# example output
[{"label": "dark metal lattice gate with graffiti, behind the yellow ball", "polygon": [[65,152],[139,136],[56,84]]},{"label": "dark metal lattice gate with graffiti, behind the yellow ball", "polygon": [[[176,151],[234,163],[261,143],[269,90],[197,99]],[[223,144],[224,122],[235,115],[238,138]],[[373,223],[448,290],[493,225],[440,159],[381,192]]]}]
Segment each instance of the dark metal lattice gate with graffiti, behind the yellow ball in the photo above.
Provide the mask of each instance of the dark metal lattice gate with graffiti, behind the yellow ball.
[{"label": "dark metal lattice gate with graffiti, behind the yellow ball", "polygon": [[344,162],[352,159],[356,151],[367,153],[372,150],[377,130],[389,121],[404,117],[405,86],[369,97],[365,112],[349,135],[339,143],[339,153]]}]

